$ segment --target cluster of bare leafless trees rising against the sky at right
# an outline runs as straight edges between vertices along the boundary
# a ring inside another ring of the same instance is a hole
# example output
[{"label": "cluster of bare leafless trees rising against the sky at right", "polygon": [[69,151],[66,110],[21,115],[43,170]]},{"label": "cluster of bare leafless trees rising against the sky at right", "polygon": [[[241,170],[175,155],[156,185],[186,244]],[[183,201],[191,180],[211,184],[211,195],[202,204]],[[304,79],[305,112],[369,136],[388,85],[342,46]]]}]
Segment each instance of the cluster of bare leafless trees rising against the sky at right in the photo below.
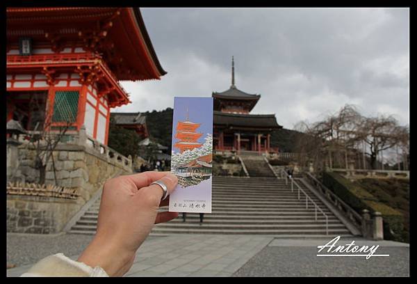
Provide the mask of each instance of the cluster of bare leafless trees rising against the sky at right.
[{"label": "cluster of bare leafless trees rising against the sky at right", "polygon": [[300,165],[313,163],[318,171],[326,164],[347,167],[350,158],[359,157],[362,141],[369,145],[370,152],[366,155],[376,168],[379,152],[397,145],[407,148],[409,141],[408,127],[400,126],[392,116],[366,118],[349,104],[324,120],[298,123],[295,128],[306,134],[296,143]]}]

